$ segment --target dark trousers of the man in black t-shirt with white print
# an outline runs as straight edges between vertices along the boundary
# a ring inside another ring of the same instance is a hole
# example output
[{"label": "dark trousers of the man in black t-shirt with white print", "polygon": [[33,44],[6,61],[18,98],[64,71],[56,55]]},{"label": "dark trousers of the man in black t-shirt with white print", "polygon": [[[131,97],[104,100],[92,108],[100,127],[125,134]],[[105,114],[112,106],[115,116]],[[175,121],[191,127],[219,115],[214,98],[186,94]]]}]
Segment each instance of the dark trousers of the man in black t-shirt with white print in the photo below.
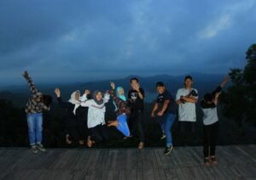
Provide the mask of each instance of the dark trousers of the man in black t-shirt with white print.
[{"label": "dark trousers of the man in black t-shirt with white print", "polygon": [[141,111],[131,112],[128,125],[132,132],[137,133],[137,136],[139,137],[140,142],[144,142],[143,112]]}]

